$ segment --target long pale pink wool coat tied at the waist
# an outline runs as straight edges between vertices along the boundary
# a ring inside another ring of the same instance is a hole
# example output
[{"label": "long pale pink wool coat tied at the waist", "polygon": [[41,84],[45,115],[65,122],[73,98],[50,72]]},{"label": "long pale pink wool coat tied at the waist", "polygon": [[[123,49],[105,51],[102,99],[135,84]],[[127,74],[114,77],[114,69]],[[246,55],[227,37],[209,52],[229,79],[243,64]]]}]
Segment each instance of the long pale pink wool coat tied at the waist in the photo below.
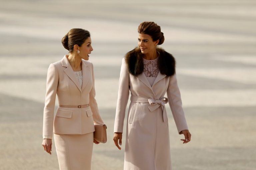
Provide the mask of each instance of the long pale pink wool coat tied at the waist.
[{"label": "long pale pink wool coat tied at the waist", "polygon": [[[171,170],[168,119],[164,103],[159,100],[167,92],[178,132],[181,134],[188,129],[176,74],[166,76],[159,72],[151,87],[144,73],[134,76],[127,68],[123,58],[114,125],[114,132],[123,132],[130,90],[132,100],[127,117],[124,170]],[[136,97],[139,99],[134,99]],[[153,106],[148,99],[153,101]]]}]

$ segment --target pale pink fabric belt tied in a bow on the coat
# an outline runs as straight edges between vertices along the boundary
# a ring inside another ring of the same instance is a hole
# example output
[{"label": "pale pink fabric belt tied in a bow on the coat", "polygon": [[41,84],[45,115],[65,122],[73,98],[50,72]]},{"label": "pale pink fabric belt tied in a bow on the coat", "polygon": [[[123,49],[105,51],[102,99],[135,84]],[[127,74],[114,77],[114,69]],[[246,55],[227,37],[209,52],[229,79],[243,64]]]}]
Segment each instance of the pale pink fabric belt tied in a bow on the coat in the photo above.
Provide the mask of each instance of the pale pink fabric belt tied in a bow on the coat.
[{"label": "pale pink fabric belt tied in a bow on the coat", "polygon": [[150,98],[146,98],[146,97],[131,96],[131,102],[149,103],[148,109],[150,110],[150,112],[156,110],[157,108],[159,108],[161,106],[162,110],[163,110],[163,121],[165,123],[168,122],[167,113],[166,113],[165,106],[164,106],[164,104],[166,104],[168,102],[168,98],[161,97],[159,100],[156,100],[156,99],[150,99]]}]

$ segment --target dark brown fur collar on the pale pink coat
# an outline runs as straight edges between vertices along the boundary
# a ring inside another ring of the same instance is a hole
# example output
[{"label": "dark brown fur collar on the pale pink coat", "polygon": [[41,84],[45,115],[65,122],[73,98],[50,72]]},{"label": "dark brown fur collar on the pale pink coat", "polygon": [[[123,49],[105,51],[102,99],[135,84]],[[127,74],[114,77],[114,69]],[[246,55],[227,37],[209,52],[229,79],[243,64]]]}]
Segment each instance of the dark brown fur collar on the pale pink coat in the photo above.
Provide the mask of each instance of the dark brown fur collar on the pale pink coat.
[{"label": "dark brown fur collar on the pale pink coat", "polygon": [[[175,58],[172,54],[166,52],[163,48],[156,48],[159,52],[158,68],[161,74],[166,76],[172,76],[175,74]],[[128,71],[132,75],[139,75],[143,73],[143,54],[139,47],[127,52],[125,55],[125,61],[128,66]]]}]

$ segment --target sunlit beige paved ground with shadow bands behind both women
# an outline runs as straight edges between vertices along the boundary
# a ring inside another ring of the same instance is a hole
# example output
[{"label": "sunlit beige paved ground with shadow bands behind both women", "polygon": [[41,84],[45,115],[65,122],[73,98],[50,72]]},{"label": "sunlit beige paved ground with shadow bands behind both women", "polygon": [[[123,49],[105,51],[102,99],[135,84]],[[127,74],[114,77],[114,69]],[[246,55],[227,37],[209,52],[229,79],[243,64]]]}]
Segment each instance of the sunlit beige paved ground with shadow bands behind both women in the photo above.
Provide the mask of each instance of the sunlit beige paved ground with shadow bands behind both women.
[{"label": "sunlit beige paved ground with shadow bands behind both women", "polygon": [[108,125],[92,169],[121,170],[112,143],[121,59],[137,45],[137,27],[155,21],[161,47],[177,59],[178,83],[192,141],[183,145],[167,107],[173,170],[256,168],[256,2],[1,0],[0,169],[58,169],[43,151],[42,115],[50,63],[67,51],[71,28],[91,32],[96,99]]}]

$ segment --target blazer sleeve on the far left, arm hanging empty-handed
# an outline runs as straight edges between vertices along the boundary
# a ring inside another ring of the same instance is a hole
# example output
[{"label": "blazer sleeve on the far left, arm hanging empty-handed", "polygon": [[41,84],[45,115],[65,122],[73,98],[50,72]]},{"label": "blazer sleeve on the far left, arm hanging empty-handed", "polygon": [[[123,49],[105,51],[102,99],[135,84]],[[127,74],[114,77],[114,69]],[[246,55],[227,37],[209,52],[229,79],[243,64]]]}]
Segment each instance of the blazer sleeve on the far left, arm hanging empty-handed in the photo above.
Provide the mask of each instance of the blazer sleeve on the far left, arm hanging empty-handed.
[{"label": "blazer sleeve on the far left, arm hanging empty-handed", "polygon": [[55,99],[58,88],[58,72],[54,64],[50,64],[46,79],[46,95],[43,116],[43,138],[52,139]]}]

